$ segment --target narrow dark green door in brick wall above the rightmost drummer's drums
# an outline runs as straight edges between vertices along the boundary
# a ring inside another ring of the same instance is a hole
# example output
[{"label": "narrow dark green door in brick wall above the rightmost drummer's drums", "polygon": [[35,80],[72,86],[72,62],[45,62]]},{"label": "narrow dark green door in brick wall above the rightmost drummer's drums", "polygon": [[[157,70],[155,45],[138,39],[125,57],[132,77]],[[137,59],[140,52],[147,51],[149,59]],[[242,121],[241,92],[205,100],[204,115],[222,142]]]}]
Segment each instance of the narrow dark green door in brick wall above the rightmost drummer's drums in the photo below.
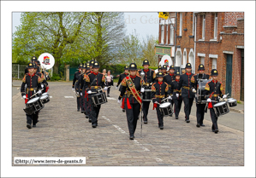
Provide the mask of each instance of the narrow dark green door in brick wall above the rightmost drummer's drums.
[{"label": "narrow dark green door in brick wall above the rightmost drummer's drums", "polygon": [[231,85],[232,85],[232,57],[233,55],[227,55],[225,94],[229,94],[229,96],[231,96]]}]

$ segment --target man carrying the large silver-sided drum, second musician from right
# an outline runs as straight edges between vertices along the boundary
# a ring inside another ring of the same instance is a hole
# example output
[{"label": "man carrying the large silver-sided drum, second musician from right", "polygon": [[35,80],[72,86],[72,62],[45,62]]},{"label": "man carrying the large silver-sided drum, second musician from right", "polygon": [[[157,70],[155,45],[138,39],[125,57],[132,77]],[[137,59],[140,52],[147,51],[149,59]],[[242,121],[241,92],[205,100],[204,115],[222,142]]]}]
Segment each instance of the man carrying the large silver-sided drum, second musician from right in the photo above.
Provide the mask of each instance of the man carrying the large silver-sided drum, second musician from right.
[{"label": "man carrying the large silver-sided drum, second musician from right", "polygon": [[[194,74],[191,78],[192,91],[194,94],[197,92],[199,79],[207,79],[207,80],[209,79],[209,75],[205,74],[205,66],[204,65],[200,64],[198,71],[199,71],[199,73]],[[197,97],[195,97],[195,100],[196,100],[196,118],[197,118],[196,126],[197,127],[205,126],[203,121],[205,118],[206,103],[199,102]]]}]

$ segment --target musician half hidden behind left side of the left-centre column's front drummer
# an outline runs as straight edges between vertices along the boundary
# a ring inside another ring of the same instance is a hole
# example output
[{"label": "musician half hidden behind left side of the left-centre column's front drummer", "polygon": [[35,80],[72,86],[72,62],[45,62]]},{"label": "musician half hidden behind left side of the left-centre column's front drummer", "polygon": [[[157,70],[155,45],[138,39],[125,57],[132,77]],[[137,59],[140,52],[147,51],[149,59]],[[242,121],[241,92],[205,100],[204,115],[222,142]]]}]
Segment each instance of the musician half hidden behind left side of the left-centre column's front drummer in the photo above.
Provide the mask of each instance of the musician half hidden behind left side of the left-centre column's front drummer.
[{"label": "musician half hidden behind left side of the left-centre column's front drummer", "polygon": [[[88,75],[89,73],[92,73],[91,71],[91,68],[90,68],[90,63],[86,63],[86,73],[84,74],[83,76],[83,83],[84,83],[84,86],[83,86],[83,89],[85,90],[84,94],[85,94],[85,107],[86,107],[86,112],[84,112],[86,114],[86,118],[89,118],[89,115],[90,115],[90,112],[91,112],[91,105],[89,104],[89,98],[88,98],[88,94],[87,94],[87,89],[89,88],[86,88],[86,75]],[[89,87],[89,86],[88,86]],[[92,123],[92,119],[89,118],[88,120],[89,123]]]}]

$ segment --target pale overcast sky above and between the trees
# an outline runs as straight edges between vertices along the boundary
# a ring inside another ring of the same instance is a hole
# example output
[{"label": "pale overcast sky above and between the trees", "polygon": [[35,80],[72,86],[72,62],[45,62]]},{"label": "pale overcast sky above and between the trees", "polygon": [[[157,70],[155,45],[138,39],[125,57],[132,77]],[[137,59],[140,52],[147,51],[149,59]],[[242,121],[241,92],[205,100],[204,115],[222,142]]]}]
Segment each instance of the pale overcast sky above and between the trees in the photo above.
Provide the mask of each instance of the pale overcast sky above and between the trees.
[{"label": "pale overcast sky above and between the trees", "polygon": [[[21,13],[13,13],[13,32],[21,25]],[[136,30],[140,40],[146,36],[158,37],[158,13],[124,13],[127,34]]]}]

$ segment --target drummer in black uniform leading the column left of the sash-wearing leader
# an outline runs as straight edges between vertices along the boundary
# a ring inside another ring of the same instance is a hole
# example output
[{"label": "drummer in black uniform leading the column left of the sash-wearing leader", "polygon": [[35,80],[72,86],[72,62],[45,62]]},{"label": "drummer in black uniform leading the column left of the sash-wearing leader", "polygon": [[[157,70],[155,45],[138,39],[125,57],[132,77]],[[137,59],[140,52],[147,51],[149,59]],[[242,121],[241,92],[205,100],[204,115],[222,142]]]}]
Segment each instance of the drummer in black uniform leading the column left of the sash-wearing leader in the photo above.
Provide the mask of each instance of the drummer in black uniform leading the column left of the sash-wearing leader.
[{"label": "drummer in black uniform leading the column left of the sash-wearing leader", "polygon": [[88,75],[85,75],[85,79],[86,79],[85,88],[90,89],[87,91],[89,102],[91,104],[91,112],[90,112],[89,118],[92,120],[92,128],[96,128],[98,126],[98,113],[101,105],[97,105],[97,106],[94,105],[92,103],[92,96],[94,95],[94,92],[102,93],[102,90],[98,91],[98,89],[107,90],[108,88],[105,87],[104,75],[98,72],[99,64],[97,61],[93,62],[92,68],[93,68],[93,72],[92,73],[90,72]]}]

